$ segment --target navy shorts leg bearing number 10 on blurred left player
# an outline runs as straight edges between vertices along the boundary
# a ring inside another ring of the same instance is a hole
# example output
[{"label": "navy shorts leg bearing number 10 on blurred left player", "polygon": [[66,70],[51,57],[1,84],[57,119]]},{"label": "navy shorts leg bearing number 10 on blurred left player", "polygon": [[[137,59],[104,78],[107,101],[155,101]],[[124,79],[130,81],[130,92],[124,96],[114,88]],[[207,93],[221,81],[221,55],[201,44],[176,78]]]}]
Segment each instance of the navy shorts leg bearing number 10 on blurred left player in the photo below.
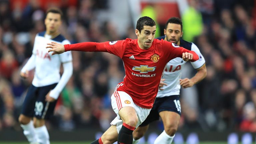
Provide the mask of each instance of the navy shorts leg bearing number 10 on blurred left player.
[{"label": "navy shorts leg bearing number 10 on blurred left player", "polygon": [[34,117],[36,117],[36,119],[49,119],[53,115],[57,100],[54,102],[46,102],[45,97],[50,90],[55,88],[56,85],[57,84],[52,84],[39,88],[34,110]]}]

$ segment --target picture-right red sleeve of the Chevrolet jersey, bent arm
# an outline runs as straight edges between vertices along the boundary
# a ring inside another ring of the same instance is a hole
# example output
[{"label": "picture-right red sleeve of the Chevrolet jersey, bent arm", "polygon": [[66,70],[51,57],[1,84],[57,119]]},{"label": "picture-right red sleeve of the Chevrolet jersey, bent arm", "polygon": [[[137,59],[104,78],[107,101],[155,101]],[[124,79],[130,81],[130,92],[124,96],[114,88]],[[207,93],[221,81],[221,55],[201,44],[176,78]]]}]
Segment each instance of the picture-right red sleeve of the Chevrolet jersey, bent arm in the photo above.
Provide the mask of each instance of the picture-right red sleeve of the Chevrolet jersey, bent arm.
[{"label": "picture-right red sleeve of the Chevrolet jersey, bent arm", "polygon": [[165,40],[162,40],[162,41],[163,41],[163,48],[166,48],[167,51],[169,51],[167,53],[168,55],[167,57],[169,58],[168,61],[176,57],[182,58],[182,53],[185,53],[185,52],[193,54],[193,59],[191,60],[191,62],[197,61],[199,59],[198,55],[194,51],[187,50],[183,47],[180,47],[174,43],[171,43]]}]

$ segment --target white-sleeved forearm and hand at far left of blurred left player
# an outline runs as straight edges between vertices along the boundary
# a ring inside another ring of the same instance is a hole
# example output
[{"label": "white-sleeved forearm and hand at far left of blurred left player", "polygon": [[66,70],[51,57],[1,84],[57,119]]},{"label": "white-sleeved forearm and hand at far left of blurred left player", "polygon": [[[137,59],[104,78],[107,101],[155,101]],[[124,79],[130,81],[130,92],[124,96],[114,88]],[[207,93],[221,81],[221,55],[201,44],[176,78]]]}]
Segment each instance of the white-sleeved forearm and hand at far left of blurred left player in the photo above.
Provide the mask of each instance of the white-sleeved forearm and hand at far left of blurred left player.
[{"label": "white-sleeved forearm and hand at far left of blurred left player", "polygon": [[24,65],[24,67],[20,71],[20,76],[24,79],[26,79],[29,76],[29,71],[34,69],[36,67],[36,56],[35,54],[32,54],[31,57],[28,59],[27,63]]}]

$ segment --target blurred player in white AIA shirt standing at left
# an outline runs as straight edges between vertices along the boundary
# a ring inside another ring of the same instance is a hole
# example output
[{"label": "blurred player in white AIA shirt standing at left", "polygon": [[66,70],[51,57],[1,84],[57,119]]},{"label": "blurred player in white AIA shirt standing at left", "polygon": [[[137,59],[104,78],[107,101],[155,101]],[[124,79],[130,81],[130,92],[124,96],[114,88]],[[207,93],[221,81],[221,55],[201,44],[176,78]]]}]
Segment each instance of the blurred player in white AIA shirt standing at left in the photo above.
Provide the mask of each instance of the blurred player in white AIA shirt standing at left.
[{"label": "blurred player in white AIA shirt standing at left", "polygon": [[[53,115],[56,100],[73,73],[71,52],[51,55],[45,49],[49,42],[70,44],[58,31],[62,21],[62,12],[51,8],[46,12],[46,31],[35,37],[33,52],[20,75],[27,78],[29,71],[35,68],[32,85],[23,103],[19,122],[23,133],[31,144],[49,144],[49,134],[45,126],[45,119]],[[63,74],[60,76],[60,66]]]}]

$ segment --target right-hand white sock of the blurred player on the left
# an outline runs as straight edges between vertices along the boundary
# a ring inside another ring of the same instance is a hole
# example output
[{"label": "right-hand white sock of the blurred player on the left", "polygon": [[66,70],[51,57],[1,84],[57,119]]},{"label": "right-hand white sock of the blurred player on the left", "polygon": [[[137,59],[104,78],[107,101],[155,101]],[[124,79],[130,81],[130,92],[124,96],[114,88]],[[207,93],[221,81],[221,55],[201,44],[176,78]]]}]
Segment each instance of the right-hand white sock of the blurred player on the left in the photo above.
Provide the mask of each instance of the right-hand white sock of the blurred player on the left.
[{"label": "right-hand white sock of the blurred player on the left", "polygon": [[49,133],[45,125],[35,128],[38,142],[42,144],[50,144]]}]

